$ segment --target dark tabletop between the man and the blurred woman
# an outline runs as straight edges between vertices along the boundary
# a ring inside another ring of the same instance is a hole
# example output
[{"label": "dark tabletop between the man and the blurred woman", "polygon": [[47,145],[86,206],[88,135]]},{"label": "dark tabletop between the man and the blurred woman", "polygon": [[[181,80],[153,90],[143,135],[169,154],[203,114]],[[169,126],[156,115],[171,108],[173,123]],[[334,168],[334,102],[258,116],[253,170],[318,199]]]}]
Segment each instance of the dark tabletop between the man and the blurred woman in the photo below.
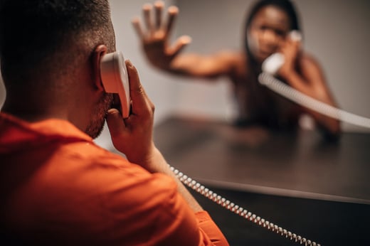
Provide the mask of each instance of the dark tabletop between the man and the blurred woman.
[{"label": "dark tabletop between the man and the blurred woman", "polygon": [[370,204],[370,134],[344,133],[333,143],[310,130],[171,117],[154,129],[154,140],[169,164],[205,184]]}]

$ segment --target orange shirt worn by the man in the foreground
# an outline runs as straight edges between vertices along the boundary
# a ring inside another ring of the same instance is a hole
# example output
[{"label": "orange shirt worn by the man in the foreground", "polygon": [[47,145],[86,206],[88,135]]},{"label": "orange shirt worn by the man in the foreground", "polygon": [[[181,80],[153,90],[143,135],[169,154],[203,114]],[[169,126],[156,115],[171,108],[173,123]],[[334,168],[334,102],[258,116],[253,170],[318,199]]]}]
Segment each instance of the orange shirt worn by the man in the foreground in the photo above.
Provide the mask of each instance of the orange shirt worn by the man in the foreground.
[{"label": "orange shirt worn by the man in the foreground", "polygon": [[[129,143],[128,143],[129,144]],[[175,181],[102,149],[69,122],[0,114],[1,227],[28,245],[228,245]]]}]

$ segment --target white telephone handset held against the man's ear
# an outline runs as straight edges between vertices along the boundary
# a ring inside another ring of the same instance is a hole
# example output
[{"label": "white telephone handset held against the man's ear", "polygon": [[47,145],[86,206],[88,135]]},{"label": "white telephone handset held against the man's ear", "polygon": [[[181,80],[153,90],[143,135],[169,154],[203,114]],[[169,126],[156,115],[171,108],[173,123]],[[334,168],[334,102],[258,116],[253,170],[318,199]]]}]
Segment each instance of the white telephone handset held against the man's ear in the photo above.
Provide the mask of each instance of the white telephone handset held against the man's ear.
[{"label": "white telephone handset held against the man's ear", "polygon": [[100,77],[105,92],[117,93],[120,97],[122,117],[129,117],[129,78],[125,59],[120,51],[107,53],[100,60]]}]

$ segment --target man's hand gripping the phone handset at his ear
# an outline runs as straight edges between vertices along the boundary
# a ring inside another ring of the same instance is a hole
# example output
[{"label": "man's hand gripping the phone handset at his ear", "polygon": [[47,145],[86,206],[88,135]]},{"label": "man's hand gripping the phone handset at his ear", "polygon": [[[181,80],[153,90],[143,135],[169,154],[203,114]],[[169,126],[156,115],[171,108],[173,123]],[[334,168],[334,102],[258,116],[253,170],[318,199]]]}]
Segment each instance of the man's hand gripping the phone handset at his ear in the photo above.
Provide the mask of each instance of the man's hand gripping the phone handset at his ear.
[{"label": "man's hand gripping the phone handset at his ear", "polygon": [[136,68],[126,61],[132,112],[123,119],[117,109],[107,113],[107,125],[115,148],[133,163],[147,168],[157,154],[153,143],[154,105],[142,87]]}]

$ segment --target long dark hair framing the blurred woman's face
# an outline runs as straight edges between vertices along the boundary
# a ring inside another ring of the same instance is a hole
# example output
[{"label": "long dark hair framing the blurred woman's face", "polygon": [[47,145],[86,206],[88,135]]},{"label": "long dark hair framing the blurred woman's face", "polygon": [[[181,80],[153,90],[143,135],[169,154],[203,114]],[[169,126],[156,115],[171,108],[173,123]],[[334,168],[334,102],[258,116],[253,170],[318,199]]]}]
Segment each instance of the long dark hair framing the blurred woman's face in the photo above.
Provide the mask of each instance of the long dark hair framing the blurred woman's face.
[{"label": "long dark hair framing the blurred woman's face", "polygon": [[261,0],[255,3],[254,6],[250,9],[247,18],[245,19],[245,28],[244,28],[244,45],[245,45],[245,51],[248,54],[248,57],[251,58],[253,61],[253,55],[250,54],[250,49],[248,46],[248,38],[247,32],[248,28],[250,27],[250,23],[252,23],[253,18],[255,18],[255,15],[265,6],[274,6],[282,11],[284,11],[287,16],[290,19],[290,30],[297,30],[301,31],[300,29],[300,23],[297,16],[297,11],[295,10],[295,6],[292,4],[290,0]]}]

